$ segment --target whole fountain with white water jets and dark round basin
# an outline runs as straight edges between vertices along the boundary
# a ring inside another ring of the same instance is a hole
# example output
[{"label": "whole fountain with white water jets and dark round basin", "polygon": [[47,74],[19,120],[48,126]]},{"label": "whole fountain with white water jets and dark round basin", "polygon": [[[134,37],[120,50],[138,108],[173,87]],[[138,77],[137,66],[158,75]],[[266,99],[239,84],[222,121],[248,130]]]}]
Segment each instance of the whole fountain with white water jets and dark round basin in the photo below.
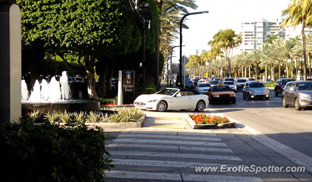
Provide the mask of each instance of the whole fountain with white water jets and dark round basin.
[{"label": "whole fountain with white water jets and dark round basin", "polygon": [[21,107],[23,112],[39,110],[41,113],[53,111],[90,112],[99,110],[99,101],[70,99],[70,88],[66,71],[62,72],[59,81],[52,77],[50,83],[36,80],[33,91],[27,90],[24,80],[21,81]]}]

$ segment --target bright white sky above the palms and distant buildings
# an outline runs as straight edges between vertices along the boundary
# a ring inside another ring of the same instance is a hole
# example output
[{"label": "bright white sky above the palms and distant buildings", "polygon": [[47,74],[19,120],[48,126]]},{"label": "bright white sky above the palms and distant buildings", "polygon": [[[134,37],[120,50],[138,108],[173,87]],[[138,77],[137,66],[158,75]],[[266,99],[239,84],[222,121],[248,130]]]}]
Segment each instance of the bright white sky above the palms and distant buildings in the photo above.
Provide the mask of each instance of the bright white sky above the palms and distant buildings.
[{"label": "bright white sky above the palms and distant buildings", "polygon": [[[219,30],[237,29],[241,22],[276,21],[290,0],[196,0],[198,8],[189,12],[209,11],[208,14],[190,15],[184,19],[189,29],[182,30],[182,55],[196,54],[196,49],[210,50],[208,42]],[[237,33],[235,31],[235,33]],[[179,37],[179,35],[178,35]],[[179,46],[176,39],[173,46]],[[172,60],[178,62],[179,48],[174,49]],[[199,53],[200,54],[200,53]]]}]

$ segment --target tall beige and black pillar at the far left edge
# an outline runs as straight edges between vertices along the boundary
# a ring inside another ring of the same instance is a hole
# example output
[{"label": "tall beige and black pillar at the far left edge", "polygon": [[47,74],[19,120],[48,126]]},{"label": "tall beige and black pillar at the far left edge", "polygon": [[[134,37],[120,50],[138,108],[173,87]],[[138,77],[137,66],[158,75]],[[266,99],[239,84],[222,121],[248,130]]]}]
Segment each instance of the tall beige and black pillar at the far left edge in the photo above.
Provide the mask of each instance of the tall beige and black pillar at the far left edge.
[{"label": "tall beige and black pillar at the far left edge", "polygon": [[0,0],[0,122],[21,115],[20,8],[14,0]]}]

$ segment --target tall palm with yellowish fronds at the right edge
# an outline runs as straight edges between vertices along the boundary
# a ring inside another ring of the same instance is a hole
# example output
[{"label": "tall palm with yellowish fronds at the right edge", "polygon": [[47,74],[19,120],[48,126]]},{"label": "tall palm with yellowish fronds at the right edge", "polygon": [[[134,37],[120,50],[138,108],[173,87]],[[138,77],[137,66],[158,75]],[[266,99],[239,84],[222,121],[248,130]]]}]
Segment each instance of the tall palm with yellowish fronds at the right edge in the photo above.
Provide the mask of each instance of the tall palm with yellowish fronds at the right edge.
[{"label": "tall palm with yellowish fronds at the right edge", "polygon": [[[306,70],[306,36],[304,28],[312,24],[312,1],[311,0],[291,0],[287,9],[281,12],[282,17],[287,16],[281,23],[281,27],[293,26],[296,28],[302,24],[302,48],[304,67]],[[307,79],[307,72],[305,71],[305,80]]]}]

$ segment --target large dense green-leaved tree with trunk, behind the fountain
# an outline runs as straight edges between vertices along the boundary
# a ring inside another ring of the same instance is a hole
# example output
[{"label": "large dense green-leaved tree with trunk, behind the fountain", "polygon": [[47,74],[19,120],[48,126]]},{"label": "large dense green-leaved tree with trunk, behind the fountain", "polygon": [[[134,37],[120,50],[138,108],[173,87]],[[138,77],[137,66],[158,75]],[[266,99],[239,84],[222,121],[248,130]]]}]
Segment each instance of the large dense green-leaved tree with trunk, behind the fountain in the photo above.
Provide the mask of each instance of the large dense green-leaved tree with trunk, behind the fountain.
[{"label": "large dense green-leaved tree with trunk, behind the fountain", "polygon": [[[68,65],[71,64],[64,55],[77,53],[77,62],[88,78],[89,97],[97,96],[94,66],[99,55],[126,54],[137,51],[141,45],[141,33],[129,1],[17,0],[17,3],[21,8],[23,50],[55,52]],[[35,46],[40,49],[34,49]]]}]

